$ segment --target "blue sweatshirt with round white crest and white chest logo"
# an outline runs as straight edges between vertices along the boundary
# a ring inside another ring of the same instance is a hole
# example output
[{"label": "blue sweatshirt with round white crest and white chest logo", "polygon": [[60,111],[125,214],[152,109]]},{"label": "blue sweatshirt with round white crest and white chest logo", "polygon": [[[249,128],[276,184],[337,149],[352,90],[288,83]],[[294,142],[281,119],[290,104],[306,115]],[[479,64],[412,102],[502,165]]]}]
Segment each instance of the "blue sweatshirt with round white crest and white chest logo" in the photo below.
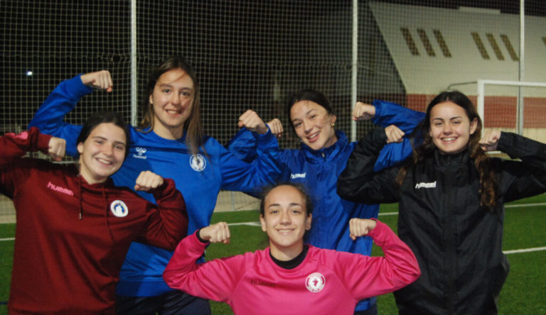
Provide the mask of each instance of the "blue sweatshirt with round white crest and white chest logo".
[{"label": "blue sweatshirt with round white crest and white chest logo", "polygon": [[[82,126],[65,123],[63,119],[82,96],[91,92],[90,87],[82,84],[80,76],[61,82],[38,109],[29,128],[36,126],[42,133],[64,138],[67,154],[77,155],[76,139]],[[259,192],[262,186],[273,184],[279,172],[274,163],[269,164],[266,159],[257,159],[252,165],[242,162],[214,138],[205,137],[206,153],[194,156],[186,146],[184,136],[168,140],[154,131],[141,132],[132,126],[129,130],[129,155],[121,169],[112,175],[114,184],[132,189],[143,170],[172,178],[186,201],[188,235],[210,224],[220,189]],[[255,141],[260,150],[277,147],[277,140],[269,131],[257,135]],[[137,193],[155,202],[151,194]],[[148,297],[171,290],[162,277],[171,255],[168,250],[132,243],[120,273],[117,294]]]}]

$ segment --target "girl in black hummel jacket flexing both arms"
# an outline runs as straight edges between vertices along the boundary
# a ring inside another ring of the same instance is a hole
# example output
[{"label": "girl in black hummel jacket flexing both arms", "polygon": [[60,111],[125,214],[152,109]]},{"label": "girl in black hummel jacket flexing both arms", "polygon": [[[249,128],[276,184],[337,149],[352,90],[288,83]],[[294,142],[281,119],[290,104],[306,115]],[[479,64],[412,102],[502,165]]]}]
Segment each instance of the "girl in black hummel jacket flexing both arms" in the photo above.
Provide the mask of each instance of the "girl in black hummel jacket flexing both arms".
[{"label": "girl in black hummel jacket flexing both arms", "polygon": [[[480,140],[481,128],[468,97],[442,92],[427,107],[422,144],[405,164],[373,172],[387,142],[378,129],[359,141],[339,177],[344,199],[399,202],[398,234],[422,270],[395,292],[400,314],[497,313],[508,275],[503,204],[546,192],[546,145],[499,131]],[[521,161],[488,157],[491,150]]]}]

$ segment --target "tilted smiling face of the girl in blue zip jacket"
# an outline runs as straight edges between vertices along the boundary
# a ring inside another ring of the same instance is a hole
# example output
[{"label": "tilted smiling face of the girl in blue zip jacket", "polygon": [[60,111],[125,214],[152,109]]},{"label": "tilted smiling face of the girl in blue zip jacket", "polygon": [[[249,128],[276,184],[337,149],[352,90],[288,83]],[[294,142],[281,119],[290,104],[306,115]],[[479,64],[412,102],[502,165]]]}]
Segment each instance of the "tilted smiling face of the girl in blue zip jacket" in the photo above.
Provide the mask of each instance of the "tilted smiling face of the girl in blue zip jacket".
[{"label": "tilted smiling face of the girl in blue zip jacket", "polygon": [[328,148],[336,143],[333,123],[336,116],[314,101],[298,101],[290,109],[290,118],[296,135],[313,150]]}]

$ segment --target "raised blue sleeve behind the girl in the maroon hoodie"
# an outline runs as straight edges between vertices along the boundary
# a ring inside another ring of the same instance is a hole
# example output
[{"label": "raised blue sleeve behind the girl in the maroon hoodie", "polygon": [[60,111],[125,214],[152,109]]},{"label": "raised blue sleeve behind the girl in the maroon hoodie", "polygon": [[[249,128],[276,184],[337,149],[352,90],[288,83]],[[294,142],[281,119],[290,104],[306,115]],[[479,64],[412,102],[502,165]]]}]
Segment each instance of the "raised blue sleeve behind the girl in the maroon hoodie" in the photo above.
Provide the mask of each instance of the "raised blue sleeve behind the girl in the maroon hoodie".
[{"label": "raised blue sleeve behind the girl in the maroon hoodie", "polygon": [[60,82],[28,124],[28,128],[38,127],[43,133],[65,139],[66,154],[73,157],[77,156],[76,140],[82,126],[65,123],[63,119],[75,108],[82,96],[92,92],[90,87],[82,83],[80,77],[81,74]]}]

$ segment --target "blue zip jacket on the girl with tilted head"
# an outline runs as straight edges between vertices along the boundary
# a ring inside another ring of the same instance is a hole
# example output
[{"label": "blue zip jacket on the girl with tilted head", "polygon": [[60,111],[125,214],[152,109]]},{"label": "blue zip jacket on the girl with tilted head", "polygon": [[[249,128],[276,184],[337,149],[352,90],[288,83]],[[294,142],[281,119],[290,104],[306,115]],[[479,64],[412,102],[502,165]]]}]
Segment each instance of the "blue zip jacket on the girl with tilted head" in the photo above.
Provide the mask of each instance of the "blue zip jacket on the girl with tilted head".
[{"label": "blue zip jacket on the girl with tilted head", "polygon": [[[374,101],[375,118],[373,122],[380,126],[395,124],[406,134],[424,118],[424,113],[405,109],[397,104]],[[282,170],[280,182],[303,184],[314,204],[311,230],[306,234],[306,243],[319,248],[341,250],[349,253],[370,255],[372,239],[349,237],[351,218],[377,218],[379,205],[367,205],[341,199],[336,193],[338,176],[345,170],[350,153],[356,143],[350,143],[343,131],[336,131],[338,141],[328,148],[313,150],[302,144],[300,149],[275,150],[272,153]],[[230,140],[228,148],[242,160],[255,158],[255,137],[246,128],[242,128]],[[381,157],[375,165],[376,170],[395,165],[412,153],[410,140],[392,143],[381,151]],[[370,301],[360,302],[357,311],[368,309]]]}]

